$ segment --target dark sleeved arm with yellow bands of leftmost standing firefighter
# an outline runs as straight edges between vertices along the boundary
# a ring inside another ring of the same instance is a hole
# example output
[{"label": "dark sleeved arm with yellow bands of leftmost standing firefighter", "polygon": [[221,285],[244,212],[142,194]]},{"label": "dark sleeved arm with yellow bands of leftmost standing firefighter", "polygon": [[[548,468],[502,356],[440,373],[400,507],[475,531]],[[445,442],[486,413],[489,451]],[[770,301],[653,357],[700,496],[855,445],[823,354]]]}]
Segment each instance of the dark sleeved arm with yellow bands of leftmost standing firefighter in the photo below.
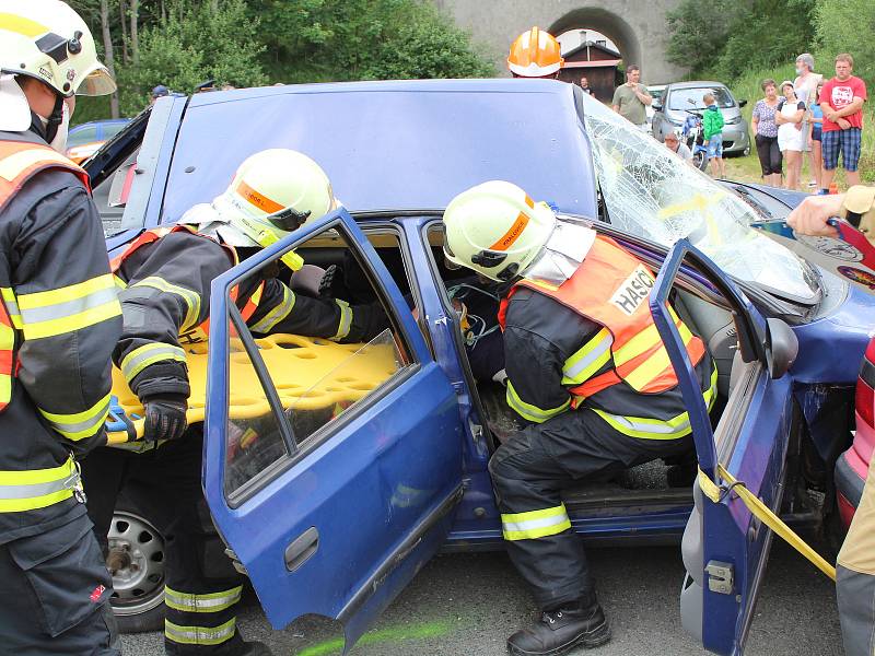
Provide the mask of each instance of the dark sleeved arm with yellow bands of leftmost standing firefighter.
[{"label": "dark sleeved arm with yellow bands of leftmost standing firefighter", "polygon": [[19,380],[58,438],[84,454],[103,441],[121,308],[93,202],[71,174],[47,175],[72,184],[37,203],[13,242]]}]

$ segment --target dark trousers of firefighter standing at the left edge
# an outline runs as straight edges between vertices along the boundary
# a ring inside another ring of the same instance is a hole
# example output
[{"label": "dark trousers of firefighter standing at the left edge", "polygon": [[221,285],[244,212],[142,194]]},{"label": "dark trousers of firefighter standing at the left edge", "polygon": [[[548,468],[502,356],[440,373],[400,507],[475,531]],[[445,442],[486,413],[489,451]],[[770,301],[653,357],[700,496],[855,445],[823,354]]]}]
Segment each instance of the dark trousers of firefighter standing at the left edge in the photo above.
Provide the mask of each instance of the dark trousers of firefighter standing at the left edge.
[{"label": "dark trousers of firefighter standing at the left edge", "polygon": [[85,515],[0,544],[0,652],[118,656],[112,590]]}]

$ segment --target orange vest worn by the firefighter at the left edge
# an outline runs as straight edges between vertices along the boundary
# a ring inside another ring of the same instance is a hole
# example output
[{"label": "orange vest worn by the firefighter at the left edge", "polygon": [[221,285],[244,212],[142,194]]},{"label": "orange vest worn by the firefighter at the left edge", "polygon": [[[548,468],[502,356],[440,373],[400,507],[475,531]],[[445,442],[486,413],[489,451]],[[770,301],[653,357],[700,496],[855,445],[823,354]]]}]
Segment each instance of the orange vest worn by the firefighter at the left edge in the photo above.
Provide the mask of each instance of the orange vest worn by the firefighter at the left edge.
[{"label": "orange vest worn by the firefighter at the left edge", "polygon": [[[61,168],[73,173],[91,194],[91,180],[85,171],[70,160],[40,143],[0,140],[0,211],[18,194],[24,184],[40,171]],[[12,399],[12,388],[18,374],[15,358],[15,325],[11,314],[18,316],[18,308],[7,307],[13,303],[12,290],[7,290],[0,300],[0,412],[7,409]]]}]

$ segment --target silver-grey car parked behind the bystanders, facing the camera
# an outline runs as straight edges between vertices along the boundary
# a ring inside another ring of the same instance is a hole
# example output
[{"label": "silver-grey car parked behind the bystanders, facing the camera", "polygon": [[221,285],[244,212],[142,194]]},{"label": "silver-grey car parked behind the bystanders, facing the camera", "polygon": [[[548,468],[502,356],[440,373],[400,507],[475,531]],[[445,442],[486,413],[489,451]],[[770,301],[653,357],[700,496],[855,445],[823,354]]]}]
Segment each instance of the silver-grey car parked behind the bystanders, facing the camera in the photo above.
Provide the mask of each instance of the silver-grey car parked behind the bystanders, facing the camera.
[{"label": "silver-grey car parked behind the bystanders, facing the camera", "polygon": [[653,137],[664,141],[670,130],[684,125],[688,110],[702,110],[702,96],[713,93],[723,113],[723,152],[728,155],[750,153],[750,136],[747,120],[742,116],[746,99],[736,101],[725,84],[710,81],[674,82],[667,84],[658,102],[651,105],[653,114]]}]

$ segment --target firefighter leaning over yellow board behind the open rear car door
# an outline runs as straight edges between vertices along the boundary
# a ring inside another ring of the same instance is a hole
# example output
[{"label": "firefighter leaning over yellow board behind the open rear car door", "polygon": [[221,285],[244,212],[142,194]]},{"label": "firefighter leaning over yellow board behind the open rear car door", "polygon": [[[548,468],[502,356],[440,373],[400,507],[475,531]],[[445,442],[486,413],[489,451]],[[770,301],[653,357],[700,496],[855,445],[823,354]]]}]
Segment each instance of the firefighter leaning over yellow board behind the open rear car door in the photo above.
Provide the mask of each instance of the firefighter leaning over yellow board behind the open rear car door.
[{"label": "firefighter leaning over yellow board behind the open rear car door", "polygon": [[[236,631],[242,577],[230,563],[226,572],[211,572],[215,563],[203,558],[211,538],[200,519],[202,431],[186,431],[190,389],[182,344],[206,339],[215,277],[335,204],[328,177],[316,162],[291,150],[261,151],[240,165],[228,190],[211,203],[195,206],[175,227],[147,231],[112,261],[124,285],[119,297],[125,316],[113,360],[142,401],[145,443],[161,446],[144,453],[97,449],[83,462],[83,477],[93,490],[89,509],[104,549],[122,485],[155,506],[158,528],[168,537],[167,654],[270,653],[261,643],[244,642]],[[292,269],[302,265],[294,253],[282,259]],[[355,342],[372,339],[386,326],[378,306],[295,294],[277,273],[276,267],[262,270],[234,292],[256,335],[292,332]],[[109,562],[115,566],[113,558]]]}]

